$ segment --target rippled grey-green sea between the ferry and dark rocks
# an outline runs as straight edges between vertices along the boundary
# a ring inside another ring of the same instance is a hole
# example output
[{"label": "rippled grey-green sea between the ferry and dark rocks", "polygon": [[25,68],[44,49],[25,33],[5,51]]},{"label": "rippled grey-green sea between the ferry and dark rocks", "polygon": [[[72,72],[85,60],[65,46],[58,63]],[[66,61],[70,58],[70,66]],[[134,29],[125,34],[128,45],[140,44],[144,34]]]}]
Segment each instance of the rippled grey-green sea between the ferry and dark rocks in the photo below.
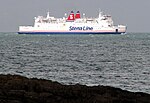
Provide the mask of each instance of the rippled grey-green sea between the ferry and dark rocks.
[{"label": "rippled grey-green sea between the ferry and dark rocks", "polygon": [[0,74],[62,84],[108,85],[150,94],[150,33],[0,33]]}]

